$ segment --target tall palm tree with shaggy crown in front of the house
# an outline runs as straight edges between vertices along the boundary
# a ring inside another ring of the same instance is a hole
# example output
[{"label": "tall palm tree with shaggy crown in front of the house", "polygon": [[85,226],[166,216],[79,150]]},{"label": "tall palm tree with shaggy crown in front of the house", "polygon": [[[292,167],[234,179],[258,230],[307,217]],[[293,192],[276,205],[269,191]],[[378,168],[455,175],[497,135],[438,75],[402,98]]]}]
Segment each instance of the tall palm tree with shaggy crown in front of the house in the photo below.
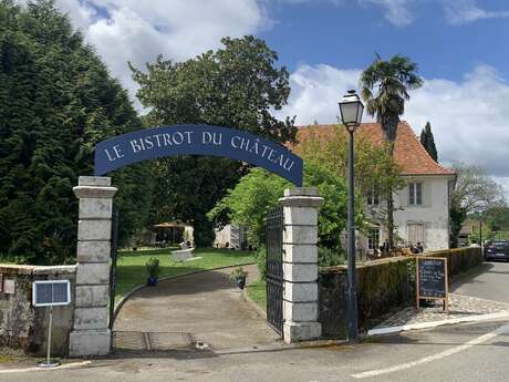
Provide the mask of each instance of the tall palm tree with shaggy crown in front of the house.
[{"label": "tall palm tree with shaggy crown in front of the house", "polygon": [[[370,115],[382,125],[391,155],[394,155],[399,116],[405,111],[408,91],[422,86],[417,64],[409,58],[394,55],[388,61],[377,54],[375,61],[361,74],[361,95]],[[389,249],[394,248],[394,200],[392,187],[386,187],[387,231]]]}]

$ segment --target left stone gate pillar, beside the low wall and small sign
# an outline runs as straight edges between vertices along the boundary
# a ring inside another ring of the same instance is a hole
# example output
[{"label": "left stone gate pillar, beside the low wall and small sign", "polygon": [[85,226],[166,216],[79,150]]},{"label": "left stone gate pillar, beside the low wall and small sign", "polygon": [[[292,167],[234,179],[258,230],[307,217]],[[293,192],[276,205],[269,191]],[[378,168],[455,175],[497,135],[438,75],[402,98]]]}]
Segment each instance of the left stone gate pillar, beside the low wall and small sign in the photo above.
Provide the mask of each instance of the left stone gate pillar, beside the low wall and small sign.
[{"label": "left stone gate pillar, beside the low wall and small sign", "polygon": [[80,199],[77,269],[71,357],[104,355],[110,352],[110,248],[113,196],[111,178],[80,176],[73,188]]}]

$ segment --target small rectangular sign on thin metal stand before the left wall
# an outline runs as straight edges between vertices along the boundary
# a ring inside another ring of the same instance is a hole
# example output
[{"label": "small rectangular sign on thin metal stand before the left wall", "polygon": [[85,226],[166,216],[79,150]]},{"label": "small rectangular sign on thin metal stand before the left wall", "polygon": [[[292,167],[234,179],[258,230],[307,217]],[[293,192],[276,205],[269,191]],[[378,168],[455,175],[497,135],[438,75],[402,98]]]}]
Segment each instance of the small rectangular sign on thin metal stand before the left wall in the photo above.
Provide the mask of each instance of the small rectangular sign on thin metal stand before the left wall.
[{"label": "small rectangular sign on thin metal stand before the left wall", "polygon": [[38,363],[39,368],[56,368],[61,363],[51,359],[51,332],[53,329],[53,307],[66,306],[71,302],[71,282],[69,280],[33,281],[32,303],[34,307],[50,307],[50,320],[48,322],[48,348],[46,359]]}]

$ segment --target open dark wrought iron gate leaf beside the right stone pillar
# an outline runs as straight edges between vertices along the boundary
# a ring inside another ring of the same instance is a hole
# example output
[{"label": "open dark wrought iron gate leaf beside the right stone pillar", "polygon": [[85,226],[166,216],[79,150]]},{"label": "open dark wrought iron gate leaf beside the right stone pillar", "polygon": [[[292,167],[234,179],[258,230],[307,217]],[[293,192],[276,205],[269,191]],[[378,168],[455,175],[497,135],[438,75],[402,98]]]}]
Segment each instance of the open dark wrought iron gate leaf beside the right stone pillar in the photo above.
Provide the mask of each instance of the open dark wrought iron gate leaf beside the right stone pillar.
[{"label": "open dark wrought iron gate leaf beside the right stone pillar", "polygon": [[267,321],[280,333],[283,330],[283,208],[267,213]]}]

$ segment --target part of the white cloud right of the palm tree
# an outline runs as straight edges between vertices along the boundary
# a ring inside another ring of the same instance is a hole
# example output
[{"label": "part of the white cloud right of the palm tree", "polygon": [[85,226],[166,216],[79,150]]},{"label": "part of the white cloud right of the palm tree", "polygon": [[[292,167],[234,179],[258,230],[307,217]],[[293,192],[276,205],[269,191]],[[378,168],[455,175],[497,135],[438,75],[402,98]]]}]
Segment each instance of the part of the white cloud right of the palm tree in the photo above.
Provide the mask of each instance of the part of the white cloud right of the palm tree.
[{"label": "part of the white cloud right of the palm tree", "polygon": [[414,92],[405,117],[415,128],[429,120],[445,162],[480,165],[509,176],[509,85],[495,69],[477,66],[461,82],[428,80]]}]

